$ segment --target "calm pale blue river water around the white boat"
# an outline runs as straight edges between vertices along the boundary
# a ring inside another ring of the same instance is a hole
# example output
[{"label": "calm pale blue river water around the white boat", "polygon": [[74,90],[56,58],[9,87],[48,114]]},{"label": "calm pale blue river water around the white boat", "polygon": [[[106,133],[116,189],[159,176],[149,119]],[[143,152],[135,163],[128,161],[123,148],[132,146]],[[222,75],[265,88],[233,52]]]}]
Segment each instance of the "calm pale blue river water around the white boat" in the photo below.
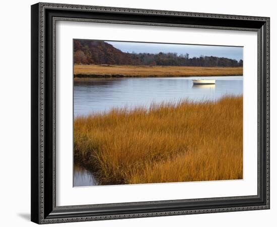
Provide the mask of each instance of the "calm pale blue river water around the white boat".
[{"label": "calm pale blue river water around the white boat", "polygon": [[[215,85],[193,85],[199,77],[99,78],[74,82],[74,116],[101,113],[112,107],[149,106],[152,102],[217,100],[242,95],[242,76],[205,77]],[[75,166],[74,186],[97,185],[92,173]]]}]

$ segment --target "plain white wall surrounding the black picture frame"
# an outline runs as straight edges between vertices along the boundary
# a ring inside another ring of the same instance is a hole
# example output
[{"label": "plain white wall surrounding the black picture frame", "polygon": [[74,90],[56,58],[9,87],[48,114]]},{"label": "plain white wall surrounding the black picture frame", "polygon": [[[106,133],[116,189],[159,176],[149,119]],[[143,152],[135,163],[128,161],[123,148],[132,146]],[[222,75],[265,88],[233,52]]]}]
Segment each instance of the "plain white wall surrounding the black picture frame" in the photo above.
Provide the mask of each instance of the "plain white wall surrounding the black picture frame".
[{"label": "plain white wall surrounding the black picture frame", "polygon": [[[49,2],[52,2],[49,0]],[[274,1],[126,1],[64,0],[55,3],[175,10],[188,12],[267,16],[271,21],[271,88],[277,83],[277,15]],[[30,222],[30,5],[36,1],[5,1],[1,4],[0,85],[0,223],[2,226],[34,226]],[[232,213],[63,223],[59,226],[274,226],[276,197],[277,115],[271,91],[271,209]],[[276,103],[276,102],[275,102]]]}]

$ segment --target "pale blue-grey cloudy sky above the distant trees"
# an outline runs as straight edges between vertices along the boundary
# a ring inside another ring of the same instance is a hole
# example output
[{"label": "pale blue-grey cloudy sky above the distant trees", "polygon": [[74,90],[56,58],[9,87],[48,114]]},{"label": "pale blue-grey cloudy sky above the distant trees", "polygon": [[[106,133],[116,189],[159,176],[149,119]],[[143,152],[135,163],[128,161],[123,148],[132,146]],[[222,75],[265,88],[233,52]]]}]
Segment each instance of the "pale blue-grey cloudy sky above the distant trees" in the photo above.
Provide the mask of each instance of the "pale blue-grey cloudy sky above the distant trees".
[{"label": "pale blue-grey cloudy sky above the distant trees", "polygon": [[105,41],[123,52],[136,53],[159,53],[176,52],[178,54],[189,54],[189,58],[204,56],[218,56],[229,59],[243,59],[243,47],[236,46],[208,46],[189,44],[166,44],[166,43],[144,43],[144,42],[118,42]]}]

